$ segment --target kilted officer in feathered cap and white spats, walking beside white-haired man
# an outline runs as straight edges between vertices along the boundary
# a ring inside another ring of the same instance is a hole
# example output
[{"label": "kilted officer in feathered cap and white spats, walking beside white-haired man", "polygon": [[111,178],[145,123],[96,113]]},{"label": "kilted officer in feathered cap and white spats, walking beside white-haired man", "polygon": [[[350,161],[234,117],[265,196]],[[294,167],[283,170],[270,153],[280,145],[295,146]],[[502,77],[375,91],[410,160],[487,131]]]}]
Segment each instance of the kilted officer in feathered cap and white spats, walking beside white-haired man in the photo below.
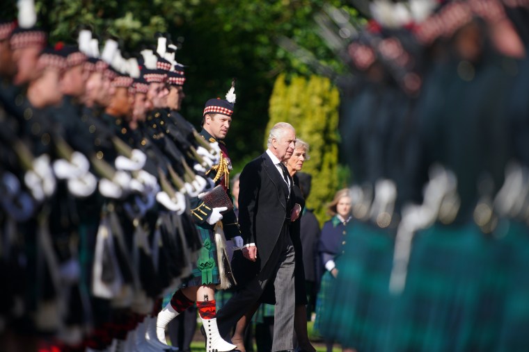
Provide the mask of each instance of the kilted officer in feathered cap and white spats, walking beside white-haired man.
[{"label": "kilted officer in feathered cap and white spats, walking beside white-haired man", "polygon": [[[223,144],[231,124],[233,113],[233,103],[235,103],[235,87],[230,89],[226,95],[226,100],[210,99],[205,104],[203,114],[203,130],[200,132],[205,140],[210,143],[218,143],[221,148],[219,162],[207,171],[216,185],[221,185],[228,191],[229,173],[231,162],[228,151]],[[226,208],[212,208],[200,199],[191,199],[191,214],[193,215],[196,227],[203,240],[203,248],[200,249],[198,262],[189,278],[184,280],[182,288],[173,294],[171,302],[161,310],[157,319],[157,335],[159,340],[165,342],[165,328],[169,321],[187,310],[194,301],[197,303],[200,319],[205,328],[207,351],[231,351],[235,345],[224,341],[219,335],[216,326],[216,306],[214,301],[214,288],[221,284],[222,288],[228,288],[232,281],[229,263],[222,261],[223,253],[226,253],[223,246],[224,238],[219,238],[226,234],[226,238],[240,237],[239,226],[235,217],[235,212],[225,215],[222,212]],[[223,229],[219,231],[219,227]],[[220,232],[220,234],[218,233]],[[221,255],[218,255],[221,254]],[[219,265],[223,270],[219,270]]]}]

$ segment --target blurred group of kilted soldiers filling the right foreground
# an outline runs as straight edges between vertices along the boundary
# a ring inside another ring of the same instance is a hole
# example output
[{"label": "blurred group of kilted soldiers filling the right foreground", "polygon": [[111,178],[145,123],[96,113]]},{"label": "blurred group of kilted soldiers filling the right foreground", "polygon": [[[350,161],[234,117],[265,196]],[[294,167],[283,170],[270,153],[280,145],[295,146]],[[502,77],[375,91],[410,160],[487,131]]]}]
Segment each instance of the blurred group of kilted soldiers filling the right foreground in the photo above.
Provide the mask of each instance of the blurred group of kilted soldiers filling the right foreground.
[{"label": "blurred group of kilted soldiers filling the right foreground", "polygon": [[[426,3],[433,12],[415,12]],[[374,1],[348,44],[341,133],[355,221],[327,339],[358,351],[527,349],[522,3]]]}]

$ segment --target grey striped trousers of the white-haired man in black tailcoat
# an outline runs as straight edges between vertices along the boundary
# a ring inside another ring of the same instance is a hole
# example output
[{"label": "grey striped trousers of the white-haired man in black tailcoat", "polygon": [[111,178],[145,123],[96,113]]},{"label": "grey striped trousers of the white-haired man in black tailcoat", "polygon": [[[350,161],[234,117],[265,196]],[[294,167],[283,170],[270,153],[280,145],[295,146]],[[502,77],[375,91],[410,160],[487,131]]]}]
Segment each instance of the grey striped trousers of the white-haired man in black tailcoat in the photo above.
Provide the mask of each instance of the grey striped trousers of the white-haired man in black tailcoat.
[{"label": "grey striped trousers of the white-haired man in black tailcoat", "polygon": [[[259,247],[258,247],[259,253]],[[235,292],[234,296],[216,314],[219,333],[226,340],[237,321],[248,307],[258,301],[264,287],[274,283],[276,310],[274,313],[274,342],[272,351],[294,349],[294,246],[287,231],[280,236],[276,249],[258,276]]]}]

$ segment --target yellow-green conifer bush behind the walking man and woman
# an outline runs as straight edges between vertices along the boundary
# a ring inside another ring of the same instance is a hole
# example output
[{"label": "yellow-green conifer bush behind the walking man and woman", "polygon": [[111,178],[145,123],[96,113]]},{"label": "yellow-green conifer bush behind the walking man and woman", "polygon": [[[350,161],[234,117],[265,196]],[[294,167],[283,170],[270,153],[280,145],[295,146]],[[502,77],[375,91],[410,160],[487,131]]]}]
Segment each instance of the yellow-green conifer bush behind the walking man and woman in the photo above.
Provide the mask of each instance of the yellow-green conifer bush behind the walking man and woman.
[{"label": "yellow-green conifer bush behind the walking man and woman", "polygon": [[[313,176],[313,187],[307,200],[315,210],[320,224],[326,215],[326,203],[338,185],[338,106],[340,96],[329,78],[320,76],[293,77],[285,74],[276,79],[270,97],[270,119],[267,131],[277,122],[285,121],[296,128],[296,137],[310,145],[310,160],[303,171]],[[267,132],[268,133],[268,132]],[[267,140],[267,133],[264,140]]]}]

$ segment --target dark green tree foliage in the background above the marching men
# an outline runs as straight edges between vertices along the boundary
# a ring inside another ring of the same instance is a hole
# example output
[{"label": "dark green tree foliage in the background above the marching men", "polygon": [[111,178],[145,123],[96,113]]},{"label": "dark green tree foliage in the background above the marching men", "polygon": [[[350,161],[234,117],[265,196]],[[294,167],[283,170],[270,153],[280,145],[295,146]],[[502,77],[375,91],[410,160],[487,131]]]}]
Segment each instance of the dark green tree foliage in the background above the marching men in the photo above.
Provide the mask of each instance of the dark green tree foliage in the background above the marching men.
[{"label": "dark green tree foliage in the background above the marching men", "polygon": [[[237,78],[237,103],[227,143],[235,169],[262,151],[268,102],[280,73],[310,76],[313,68],[278,46],[279,36],[292,38],[335,71],[342,64],[315,31],[314,15],[325,3],[356,10],[344,0],[35,0],[40,24],[50,42],[76,40],[79,25],[100,37],[115,35],[127,51],[142,42],[155,43],[167,32],[187,65],[182,115],[197,128],[205,101],[223,97]],[[13,6],[14,8],[14,6]],[[15,12],[13,12],[15,13]]]}]

